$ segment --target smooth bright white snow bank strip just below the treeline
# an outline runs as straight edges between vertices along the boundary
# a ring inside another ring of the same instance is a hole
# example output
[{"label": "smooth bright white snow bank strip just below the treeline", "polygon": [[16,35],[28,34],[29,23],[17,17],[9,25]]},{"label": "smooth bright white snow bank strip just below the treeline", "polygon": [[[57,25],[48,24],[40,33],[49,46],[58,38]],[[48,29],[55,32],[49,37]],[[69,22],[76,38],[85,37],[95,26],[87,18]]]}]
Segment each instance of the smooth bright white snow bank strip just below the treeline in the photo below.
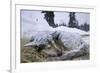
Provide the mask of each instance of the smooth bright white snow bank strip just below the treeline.
[{"label": "smooth bright white snow bank strip just below the treeline", "polygon": [[35,35],[36,33],[41,33],[41,32],[54,32],[54,31],[64,31],[64,32],[69,32],[69,33],[77,33],[81,36],[83,35],[89,35],[88,32],[85,32],[85,31],[82,31],[80,29],[77,29],[77,28],[69,28],[69,27],[64,27],[64,26],[60,26],[60,27],[56,27],[56,28],[52,28],[52,27],[45,27],[44,26],[39,26],[37,28],[37,30],[31,30],[31,31],[27,31],[25,34],[24,34],[24,37],[32,37],[33,35]]}]

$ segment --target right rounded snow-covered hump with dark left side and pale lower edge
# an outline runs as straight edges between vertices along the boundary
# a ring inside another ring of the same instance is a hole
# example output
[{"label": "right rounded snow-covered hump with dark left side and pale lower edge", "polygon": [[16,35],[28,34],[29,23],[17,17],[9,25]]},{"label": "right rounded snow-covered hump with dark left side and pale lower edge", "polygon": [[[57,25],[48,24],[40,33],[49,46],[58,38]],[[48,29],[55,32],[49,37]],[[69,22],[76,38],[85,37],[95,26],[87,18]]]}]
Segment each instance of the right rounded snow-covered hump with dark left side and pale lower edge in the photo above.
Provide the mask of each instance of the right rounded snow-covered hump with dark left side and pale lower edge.
[{"label": "right rounded snow-covered hump with dark left side and pale lower edge", "polygon": [[[53,33],[53,40],[59,45],[62,56],[50,58],[52,60],[67,60],[89,54],[89,45],[83,41],[78,33],[55,31]],[[67,50],[67,52],[65,50]]]}]

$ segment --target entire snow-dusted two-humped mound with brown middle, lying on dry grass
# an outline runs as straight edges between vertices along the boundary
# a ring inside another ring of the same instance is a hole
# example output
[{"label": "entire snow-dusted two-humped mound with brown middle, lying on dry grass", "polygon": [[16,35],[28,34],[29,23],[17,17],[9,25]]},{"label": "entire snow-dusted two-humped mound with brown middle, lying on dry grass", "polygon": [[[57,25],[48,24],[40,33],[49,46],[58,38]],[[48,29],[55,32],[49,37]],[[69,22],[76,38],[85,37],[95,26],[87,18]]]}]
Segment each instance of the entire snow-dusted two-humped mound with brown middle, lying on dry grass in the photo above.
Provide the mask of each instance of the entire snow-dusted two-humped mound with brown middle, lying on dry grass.
[{"label": "entire snow-dusted two-humped mound with brown middle, lying on dry grass", "polygon": [[51,57],[48,60],[67,60],[89,53],[89,46],[79,34],[66,31],[39,32],[24,46],[37,47],[38,51],[41,51],[50,45],[58,50],[59,55],[57,53],[56,57]]}]

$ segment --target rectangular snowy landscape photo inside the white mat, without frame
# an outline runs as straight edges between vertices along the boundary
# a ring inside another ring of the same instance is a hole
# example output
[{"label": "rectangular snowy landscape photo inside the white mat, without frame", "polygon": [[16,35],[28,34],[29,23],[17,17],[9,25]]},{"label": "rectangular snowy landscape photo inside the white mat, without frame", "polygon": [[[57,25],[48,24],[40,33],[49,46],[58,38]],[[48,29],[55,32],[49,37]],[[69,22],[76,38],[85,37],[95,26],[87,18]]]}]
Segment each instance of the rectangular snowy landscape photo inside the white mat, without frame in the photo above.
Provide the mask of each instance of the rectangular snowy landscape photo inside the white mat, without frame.
[{"label": "rectangular snowy landscape photo inside the white mat, without frame", "polygon": [[90,13],[20,9],[20,62],[90,59]]}]

